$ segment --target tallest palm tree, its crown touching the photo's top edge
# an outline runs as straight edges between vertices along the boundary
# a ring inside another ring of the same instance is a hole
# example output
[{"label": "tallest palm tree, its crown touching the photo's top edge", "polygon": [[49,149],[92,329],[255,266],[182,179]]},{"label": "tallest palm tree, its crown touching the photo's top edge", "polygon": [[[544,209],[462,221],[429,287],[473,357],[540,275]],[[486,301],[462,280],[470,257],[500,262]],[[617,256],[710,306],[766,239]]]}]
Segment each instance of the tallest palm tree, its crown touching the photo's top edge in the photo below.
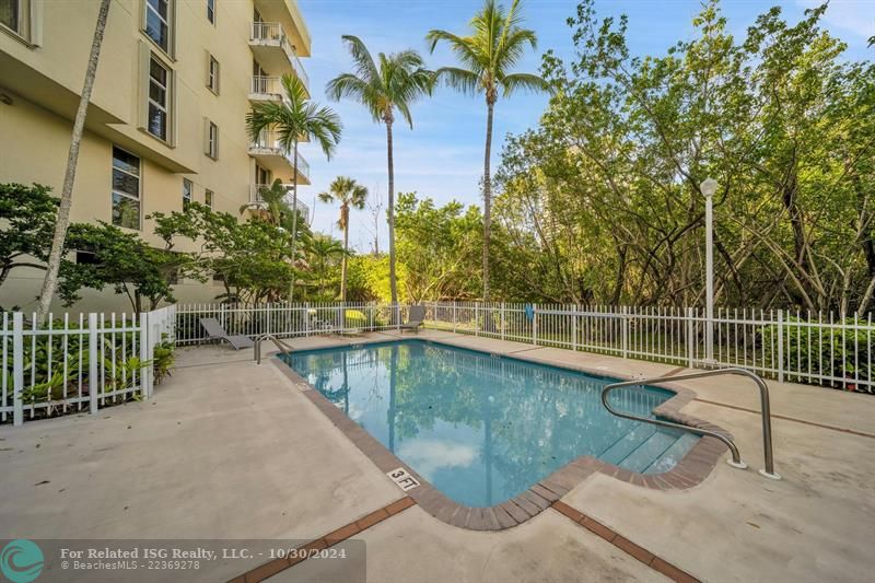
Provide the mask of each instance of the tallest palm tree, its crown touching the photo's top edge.
[{"label": "tallest palm tree, its crown touching the photo's top edge", "polygon": [[438,43],[445,42],[453,49],[462,67],[442,67],[434,71],[434,81],[443,80],[447,85],[486,96],[486,153],[483,155],[483,301],[489,300],[489,238],[492,215],[492,188],[489,158],[492,152],[492,110],[499,98],[518,90],[542,91],[547,82],[532,73],[511,73],[520,61],[525,46],[537,47],[535,32],[523,28],[520,12],[521,0],[513,0],[511,9],[486,0],[483,8],[471,19],[470,36],[458,36],[446,31],[430,31],[425,40],[434,53]]}]

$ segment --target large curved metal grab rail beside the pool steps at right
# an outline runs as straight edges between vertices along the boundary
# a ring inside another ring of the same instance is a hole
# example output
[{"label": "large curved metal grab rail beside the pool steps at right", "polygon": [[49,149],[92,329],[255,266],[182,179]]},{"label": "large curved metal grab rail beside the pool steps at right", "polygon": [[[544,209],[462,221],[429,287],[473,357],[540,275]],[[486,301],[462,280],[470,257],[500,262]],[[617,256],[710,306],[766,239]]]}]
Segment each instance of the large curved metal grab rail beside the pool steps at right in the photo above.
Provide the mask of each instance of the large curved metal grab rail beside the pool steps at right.
[{"label": "large curved metal grab rail beside the pool steps at right", "polygon": [[757,384],[757,387],[759,387],[760,405],[762,411],[762,451],[766,458],[766,468],[760,469],[759,473],[766,476],[767,478],[780,480],[781,476],[774,473],[774,458],[772,456],[772,420],[771,420],[771,409],[769,407],[769,387],[766,385],[766,381],[763,381],[759,375],[751,373],[750,371],[747,371],[745,369],[735,369],[735,368],[718,369],[713,371],[700,371],[695,373],[679,374],[676,376],[655,376],[652,378],[638,378],[634,381],[611,383],[602,389],[602,405],[604,405],[605,409],[607,409],[608,412],[610,412],[611,415],[621,417],[623,419],[631,419],[632,421],[641,421],[654,425],[680,429],[684,431],[689,431],[690,433],[697,433],[699,435],[710,435],[712,438],[715,438],[725,443],[726,446],[730,448],[730,452],[732,453],[732,460],[727,460],[727,463],[733,467],[745,469],[747,468],[747,464],[742,462],[742,456],[738,453],[738,447],[735,446],[735,443],[731,439],[721,433],[718,433],[715,431],[710,431],[708,429],[699,429],[690,425],[684,425],[680,423],[674,423],[672,421],[663,421],[662,419],[650,419],[648,417],[638,417],[634,415],[625,413],[621,411],[617,411],[608,403],[608,394],[615,388],[620,388],[625,386],[634,386],[634,385],[653,385],[658,383],[666,383],[668,381],[688,381],[691,378],[702,378],[705,376],[719,376],[724,374],[736,374],[740,376],[747,376]]}]

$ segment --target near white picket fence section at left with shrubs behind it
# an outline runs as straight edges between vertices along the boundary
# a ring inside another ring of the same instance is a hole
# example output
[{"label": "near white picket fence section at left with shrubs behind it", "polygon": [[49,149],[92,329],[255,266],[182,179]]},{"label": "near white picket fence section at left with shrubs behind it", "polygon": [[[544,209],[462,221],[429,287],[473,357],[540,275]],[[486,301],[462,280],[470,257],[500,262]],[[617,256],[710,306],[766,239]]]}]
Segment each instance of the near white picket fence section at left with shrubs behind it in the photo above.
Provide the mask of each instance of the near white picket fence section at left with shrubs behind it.
[{"label": "near white picket fence section at left with shrubs behind it", "polygon": [[[3,313],[0,422],[32,420],[149,397],[154,347],[176,330],[176,306],[141,314]],[[149,363],[143,365],[144,363]]]}]

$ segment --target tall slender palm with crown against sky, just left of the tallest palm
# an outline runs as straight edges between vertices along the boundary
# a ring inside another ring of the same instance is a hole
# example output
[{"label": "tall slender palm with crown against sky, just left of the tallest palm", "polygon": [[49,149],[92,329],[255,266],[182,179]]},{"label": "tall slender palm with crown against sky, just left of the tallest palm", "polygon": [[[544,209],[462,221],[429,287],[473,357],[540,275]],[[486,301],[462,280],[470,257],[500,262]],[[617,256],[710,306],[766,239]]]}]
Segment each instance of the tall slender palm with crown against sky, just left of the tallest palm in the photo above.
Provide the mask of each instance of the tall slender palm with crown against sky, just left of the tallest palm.
[{"label": "tall slender palm with crown against sky, just left of the tallest palm", "polygon": [[326,93],[335,101],[341,97],[355,100],[371,113],[374,121],[386,125],[386,153],[389,174],[388,226],[389,226],[389,290],[393,305],[398,303],[398,282],[395,276],[395,166],[392,152],[392,125],[397,109],[412,129],[410,105],[431,92],[432,73],[425,69],[422,57],[416,50],[402,50],[392,55],[381,53],[377,62],[364,43],[357,36],[343,35],[349,47],[354,73],[342,73],[328,82]]}]

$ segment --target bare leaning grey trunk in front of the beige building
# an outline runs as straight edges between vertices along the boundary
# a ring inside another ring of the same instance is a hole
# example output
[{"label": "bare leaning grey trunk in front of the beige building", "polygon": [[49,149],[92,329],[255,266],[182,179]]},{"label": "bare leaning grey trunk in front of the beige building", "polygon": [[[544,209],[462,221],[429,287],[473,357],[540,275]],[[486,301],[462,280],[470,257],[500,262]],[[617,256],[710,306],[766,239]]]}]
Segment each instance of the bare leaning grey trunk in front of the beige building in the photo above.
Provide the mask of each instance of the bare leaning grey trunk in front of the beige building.
[{"label": "bare leaning grey trunk in front of the beige building", "polygon": [[63,254],[63,241],[67,237],[67,228],[70,225],[70,207],[73,199],[73,183],[75,182],[75,166],[79,162],[79,147],[82,143],[82,133],[85,129],[85,116],[91,102],[91,91],[94,89],[94,77],[97,73],[97,60],[101,56],[103,33],[106,30],[106,18],[109,13],[110,0],[101,0],[97,10],[97,24],[94,27],[94,39],[91,43],[89,66],[85,69],[85,82],[82,84],[82,94],[79,97],[79,108],[73,121],[73,133],[70,138],[70,151],[67,155],[67,172],[63,175],[61,201],[58,207],[58,219],[55,223],[55,236],[51,238],[51,252],[46,266],[46,277],[43,279],[43,289],[39,292],[39,307],[37,317],[42,320],[48,313],[55,289],[58,287],[58,269]]}]

